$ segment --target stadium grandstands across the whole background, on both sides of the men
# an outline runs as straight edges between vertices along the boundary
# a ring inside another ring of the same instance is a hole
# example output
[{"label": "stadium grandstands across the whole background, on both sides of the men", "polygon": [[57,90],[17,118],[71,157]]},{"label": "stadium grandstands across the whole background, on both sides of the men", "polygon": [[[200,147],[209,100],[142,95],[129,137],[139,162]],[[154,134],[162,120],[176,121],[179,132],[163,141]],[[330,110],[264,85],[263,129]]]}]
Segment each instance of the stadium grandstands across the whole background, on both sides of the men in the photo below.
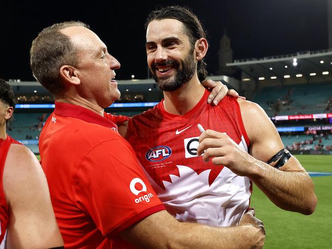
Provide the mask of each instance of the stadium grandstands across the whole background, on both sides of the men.
[{"label": "stadium grandstands across the whole background, on both sides of the men", "polygon": [[[241,71],[241,80],[210,76],[259,104],[271,118],[292,153],[332,154],[332,49],[306,51],[227,63]],[[54,99],[38,82],[9,80],[17,109],[8,133],[38,154],[38,138]],[[106,109],[132,116],[163,97],[153,79],[118,81],[121,98]]]}]

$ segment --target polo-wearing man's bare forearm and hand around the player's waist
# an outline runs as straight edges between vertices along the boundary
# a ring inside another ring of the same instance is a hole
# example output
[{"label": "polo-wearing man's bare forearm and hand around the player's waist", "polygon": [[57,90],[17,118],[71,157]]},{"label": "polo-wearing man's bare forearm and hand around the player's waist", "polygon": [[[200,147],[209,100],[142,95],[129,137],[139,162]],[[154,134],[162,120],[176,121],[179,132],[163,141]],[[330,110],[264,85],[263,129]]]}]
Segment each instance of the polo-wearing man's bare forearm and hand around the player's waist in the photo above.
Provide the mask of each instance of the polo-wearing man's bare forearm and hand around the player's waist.
[{"label": "polo-wearing man's bare forearm and hand around the player's waist", "polygon": [[179,222],[167,211],[160,211],[126,229],[121,236],[137,248],[262,248],[263,223],[249,212],[243,224],[217,228]]}]

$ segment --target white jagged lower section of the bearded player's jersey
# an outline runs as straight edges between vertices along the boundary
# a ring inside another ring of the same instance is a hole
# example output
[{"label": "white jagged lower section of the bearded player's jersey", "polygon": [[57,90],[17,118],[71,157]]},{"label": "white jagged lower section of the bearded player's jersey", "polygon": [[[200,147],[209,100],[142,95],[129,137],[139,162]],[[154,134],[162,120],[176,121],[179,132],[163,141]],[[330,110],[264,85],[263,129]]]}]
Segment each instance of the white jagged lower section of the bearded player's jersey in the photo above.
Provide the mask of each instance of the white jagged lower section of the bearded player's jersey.
[{"label": "white jagged lower section of the bearded player's jersey", "polygon": [[[248,152],[243,136],[239,146]],[[188,166],[177,167],[180,177],[170,175],[172,182],[163,181],[165,191],[154,184],[160,190],[158,197],[170,213],[180,221],[197,221],[210,226],[238,224],[249,207],[250,180],[247,177],[235,175],[224,167],[209,186],[211,169],[198,175]]]}]

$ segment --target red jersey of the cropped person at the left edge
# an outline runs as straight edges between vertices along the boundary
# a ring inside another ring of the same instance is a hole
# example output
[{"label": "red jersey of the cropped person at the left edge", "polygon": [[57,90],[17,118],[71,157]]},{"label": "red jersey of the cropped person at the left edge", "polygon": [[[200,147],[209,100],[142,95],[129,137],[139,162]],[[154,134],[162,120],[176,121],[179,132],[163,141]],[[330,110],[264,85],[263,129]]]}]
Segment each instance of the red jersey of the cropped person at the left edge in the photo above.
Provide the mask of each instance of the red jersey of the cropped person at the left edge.
[{"label": "red jersey of the cropped person at the left edge", "polygon": [[[1,225],[1,234],[0,234],[0,243],[3,241],[8,223],[9,223],[9,209],[7,205],[7,200],[4,192],[3,186],[3,176],[4,176],[4,167],[9,151],[9,147],[12,143],[18,143],[15,139],[7,135],[5,140],[0,139],[0,225]],[[1,243],[1,246],[3,243]],[[0,248],[2,248],[0,246]]]}]

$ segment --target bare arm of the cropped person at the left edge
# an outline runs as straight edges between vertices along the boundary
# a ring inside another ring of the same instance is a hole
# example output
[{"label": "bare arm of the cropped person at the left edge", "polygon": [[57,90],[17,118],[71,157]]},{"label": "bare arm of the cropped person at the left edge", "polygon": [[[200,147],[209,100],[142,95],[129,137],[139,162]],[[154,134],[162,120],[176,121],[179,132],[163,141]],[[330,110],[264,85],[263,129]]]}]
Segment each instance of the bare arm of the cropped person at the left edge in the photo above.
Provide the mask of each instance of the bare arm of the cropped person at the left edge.
[{"label": "bare arm of the cropped person at the left edge", "polygon": [[3,182],[10,211],[7,248],[63,246],[45,175],[28,148],[11,145]]}]

